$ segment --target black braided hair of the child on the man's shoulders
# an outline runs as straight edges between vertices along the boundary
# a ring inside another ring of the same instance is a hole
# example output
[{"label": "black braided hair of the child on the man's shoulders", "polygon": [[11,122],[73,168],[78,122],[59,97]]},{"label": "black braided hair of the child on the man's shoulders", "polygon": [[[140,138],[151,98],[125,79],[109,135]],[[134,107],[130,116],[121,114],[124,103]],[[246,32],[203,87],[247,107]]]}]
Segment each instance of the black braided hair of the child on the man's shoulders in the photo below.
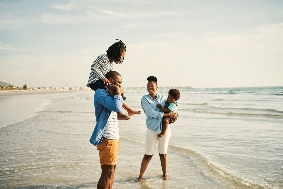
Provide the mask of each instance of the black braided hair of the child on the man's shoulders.
[{"label": "black braided hair of the child on the man's shoulders", "polygon": [[[119,39],[116,39],[119,40]],[[126,51],[126,45],[123,43],[123,41],[119,40],[116,43],[113,43],[106,51],[106,54],[109,58],[114,58],[114,61],[119,61],[121,59],[123,51]],[[125,56],[124,56],[125,58]],[[120,64],[124,61],[120,62]]]}]

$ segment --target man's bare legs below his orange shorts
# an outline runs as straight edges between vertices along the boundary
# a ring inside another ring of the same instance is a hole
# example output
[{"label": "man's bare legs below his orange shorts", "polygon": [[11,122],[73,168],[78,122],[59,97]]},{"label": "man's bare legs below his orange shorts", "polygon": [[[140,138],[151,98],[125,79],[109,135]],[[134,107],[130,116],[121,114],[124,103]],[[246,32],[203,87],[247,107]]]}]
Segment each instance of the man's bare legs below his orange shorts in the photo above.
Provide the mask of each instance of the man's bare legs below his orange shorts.
[{"label": "man's bare legs below his orange shorts", "polygon": [[109,188],[112,177],[114,179],[114,167],[115,165],[101,165],[101,176],[97,182],[97,189]]}]

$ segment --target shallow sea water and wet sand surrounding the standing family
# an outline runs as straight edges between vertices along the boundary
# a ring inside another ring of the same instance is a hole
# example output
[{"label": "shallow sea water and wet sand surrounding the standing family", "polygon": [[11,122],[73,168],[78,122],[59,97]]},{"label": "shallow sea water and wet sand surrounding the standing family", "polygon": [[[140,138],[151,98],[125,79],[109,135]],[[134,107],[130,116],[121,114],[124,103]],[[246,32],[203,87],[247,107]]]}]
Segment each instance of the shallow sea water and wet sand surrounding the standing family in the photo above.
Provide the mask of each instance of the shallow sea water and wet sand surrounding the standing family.
[{"label": "shallow sea water and wet sand surrounding the standing family", "polygon": [[[169,89],[157,92],[167,95]],[[113,188],[283,188],[283,87],[178,89],[168,179],[156,148],[144,180],[137,181],[147,129],[142,112],[119,121]],[[128,105],[142,111],[146,88],[124,90]],[[96,123],[93,95],[1,95],[0,188],[95,188],[101,169],[89,142]]]}]

